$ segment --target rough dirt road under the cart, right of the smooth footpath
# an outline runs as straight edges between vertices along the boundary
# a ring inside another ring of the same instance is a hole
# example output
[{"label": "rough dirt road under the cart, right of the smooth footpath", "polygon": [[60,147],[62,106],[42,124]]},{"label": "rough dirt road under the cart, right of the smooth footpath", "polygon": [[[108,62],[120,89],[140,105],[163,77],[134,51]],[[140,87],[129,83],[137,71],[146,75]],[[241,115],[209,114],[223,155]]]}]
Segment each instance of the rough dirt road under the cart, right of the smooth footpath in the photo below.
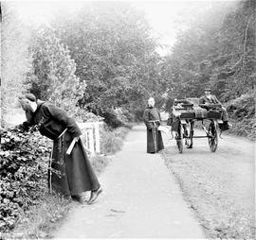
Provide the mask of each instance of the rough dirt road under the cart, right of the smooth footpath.
[{"label": "rough dirt road under the cart, right of the smooth footpath", "polygon": [[[203,131],[195,129],[195,135]],[[224,135],[216,152],[207,139],[178,153],[166,142],[163,156],[210,237],[255,237],[255,143]]]}]

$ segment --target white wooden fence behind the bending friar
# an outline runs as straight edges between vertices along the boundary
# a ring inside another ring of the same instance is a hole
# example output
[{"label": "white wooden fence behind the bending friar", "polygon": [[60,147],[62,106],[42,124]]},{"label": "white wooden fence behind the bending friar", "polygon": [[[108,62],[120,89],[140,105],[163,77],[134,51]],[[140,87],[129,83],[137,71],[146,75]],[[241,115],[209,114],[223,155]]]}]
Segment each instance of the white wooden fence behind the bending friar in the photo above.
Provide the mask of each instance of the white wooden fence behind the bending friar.
[{"label": "white wooden fence behind the bending friar", "polygon": [[100,126],[103,122],[78,123],[82,130],[82,142],[92,156],[101,153]]}]

